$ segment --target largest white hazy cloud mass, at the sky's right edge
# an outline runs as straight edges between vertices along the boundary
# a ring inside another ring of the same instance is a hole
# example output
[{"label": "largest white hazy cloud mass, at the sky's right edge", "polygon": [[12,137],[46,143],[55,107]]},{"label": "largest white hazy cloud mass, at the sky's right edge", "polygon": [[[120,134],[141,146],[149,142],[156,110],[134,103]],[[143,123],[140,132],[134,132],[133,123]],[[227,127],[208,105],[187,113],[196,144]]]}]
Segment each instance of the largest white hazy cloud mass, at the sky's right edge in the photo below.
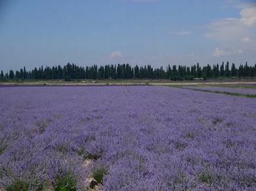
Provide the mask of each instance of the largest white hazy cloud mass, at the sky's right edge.
[{"label": "largest white hazy cloud mass, at the sky's right edge", "polygon": [[[250,6],[248,6],[250,5]],[[217,45],[212,56],[240,61],[255,62],[256,51],[256,4],[242,5],[238,18],[222,18],[208,25],[205,37],[215,40]]]}]

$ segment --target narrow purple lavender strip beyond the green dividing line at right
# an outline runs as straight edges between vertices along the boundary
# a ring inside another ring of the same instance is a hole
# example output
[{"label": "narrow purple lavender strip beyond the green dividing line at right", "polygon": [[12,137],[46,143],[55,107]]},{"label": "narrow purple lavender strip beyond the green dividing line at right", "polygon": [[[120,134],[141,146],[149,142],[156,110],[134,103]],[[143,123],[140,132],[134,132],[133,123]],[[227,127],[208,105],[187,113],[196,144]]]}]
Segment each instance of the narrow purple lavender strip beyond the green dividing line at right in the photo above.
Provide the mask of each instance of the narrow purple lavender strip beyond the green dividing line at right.
[{"label": "narrow purple lavender strip beyond the green dividing line at right", "polygon": [[209,92],[228,92],[234,94],[256,95],[256,89],[249,88],[227,88],[227,87],[215,87],[215,86],[186,86],[190,90],[206,90]]}]

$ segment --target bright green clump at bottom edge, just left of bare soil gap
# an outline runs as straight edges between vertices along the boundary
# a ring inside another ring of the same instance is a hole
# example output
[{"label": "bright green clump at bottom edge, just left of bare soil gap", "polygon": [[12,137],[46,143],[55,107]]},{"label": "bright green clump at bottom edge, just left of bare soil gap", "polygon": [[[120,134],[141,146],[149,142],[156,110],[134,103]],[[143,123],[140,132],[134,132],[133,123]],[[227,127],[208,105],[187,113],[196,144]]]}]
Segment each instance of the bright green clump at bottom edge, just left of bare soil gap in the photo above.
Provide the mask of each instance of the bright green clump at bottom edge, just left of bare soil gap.
[{"label": "bright green clump at bottom edge, just left of bare soil gap", "polygon": [[74,176],[70,173],[59,177],[56,180],[56,187],[54,188],[55,191],[75,191],[75,186],[77,182],[75,181]]}]

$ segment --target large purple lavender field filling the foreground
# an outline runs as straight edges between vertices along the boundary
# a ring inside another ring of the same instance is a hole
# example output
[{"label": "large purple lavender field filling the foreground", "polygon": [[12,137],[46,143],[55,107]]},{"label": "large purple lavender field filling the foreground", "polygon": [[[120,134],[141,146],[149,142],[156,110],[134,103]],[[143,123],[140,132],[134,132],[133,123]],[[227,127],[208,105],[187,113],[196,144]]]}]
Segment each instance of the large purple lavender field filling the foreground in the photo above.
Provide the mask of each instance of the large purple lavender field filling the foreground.
[{"label": "large purple lavender field filling the foreground", "polygon": [[256,189],[255,99],[161,86],[0,97],[0,190]]}]

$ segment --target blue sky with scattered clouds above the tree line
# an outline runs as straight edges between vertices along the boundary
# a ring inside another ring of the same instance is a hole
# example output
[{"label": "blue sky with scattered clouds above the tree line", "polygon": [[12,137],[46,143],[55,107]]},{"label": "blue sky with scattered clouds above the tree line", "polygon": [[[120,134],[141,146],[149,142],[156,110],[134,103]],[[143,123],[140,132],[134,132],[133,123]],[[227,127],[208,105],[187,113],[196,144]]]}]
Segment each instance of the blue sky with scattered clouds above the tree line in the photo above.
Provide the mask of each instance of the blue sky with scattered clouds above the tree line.
[{"label": "blue sky with scattered clouds above the tree line", "polygon": [[256,63],[255,1],[1,0],[0,69]]}]

